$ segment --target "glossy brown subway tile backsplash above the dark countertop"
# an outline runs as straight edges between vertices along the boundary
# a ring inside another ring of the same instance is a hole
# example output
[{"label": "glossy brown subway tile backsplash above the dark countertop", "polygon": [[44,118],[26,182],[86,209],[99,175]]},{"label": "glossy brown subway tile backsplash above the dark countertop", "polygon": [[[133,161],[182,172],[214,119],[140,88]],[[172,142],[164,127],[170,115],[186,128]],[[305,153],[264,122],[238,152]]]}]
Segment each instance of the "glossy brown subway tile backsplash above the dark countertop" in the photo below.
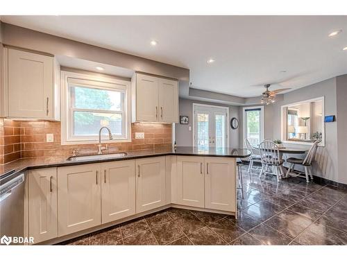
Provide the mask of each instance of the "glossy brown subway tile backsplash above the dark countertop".
[{"label": "glossy brown subway tile backsplash above the dark countertop", "polygon": [[[144,139],[135,139],[135,132],[144,132]],[[54,142],[46,142],[46,134],[53,134]],[[69,156],[73,149],[80,154],[96,153],[97,144],[61,145],[60,122],[12,121],[0,119],[0,164],[19,158]],[[107,143],[107,141],[103,141]],[[132,140],[109,143],[109,153],[130,150],[171,148],[171,125],[133,123]]]}]

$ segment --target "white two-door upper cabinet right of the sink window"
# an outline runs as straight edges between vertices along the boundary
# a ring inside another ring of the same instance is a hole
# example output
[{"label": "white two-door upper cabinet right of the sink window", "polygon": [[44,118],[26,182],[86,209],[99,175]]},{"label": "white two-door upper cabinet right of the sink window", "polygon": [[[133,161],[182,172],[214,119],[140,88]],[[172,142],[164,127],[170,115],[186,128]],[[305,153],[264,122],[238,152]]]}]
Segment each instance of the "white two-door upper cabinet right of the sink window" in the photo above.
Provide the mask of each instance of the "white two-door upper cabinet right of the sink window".
[{"label": "white two-door upper cabinet right of the sink window", "polygon": [[132,121],[178,123],[178,81],[135,73]]}]

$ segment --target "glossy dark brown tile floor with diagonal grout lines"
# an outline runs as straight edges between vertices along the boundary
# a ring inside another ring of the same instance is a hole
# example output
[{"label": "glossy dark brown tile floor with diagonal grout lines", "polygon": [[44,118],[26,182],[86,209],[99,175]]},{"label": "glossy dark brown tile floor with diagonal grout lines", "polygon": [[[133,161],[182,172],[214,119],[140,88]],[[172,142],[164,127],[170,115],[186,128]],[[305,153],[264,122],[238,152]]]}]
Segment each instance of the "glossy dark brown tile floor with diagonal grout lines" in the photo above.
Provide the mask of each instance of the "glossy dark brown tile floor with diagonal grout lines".
[{"label": "glossy dark brown tile floor with diagonal grout lines", "polygon": [[347,245],[347,190],[246,173],[239,214],[167,209],[63,245]]}]

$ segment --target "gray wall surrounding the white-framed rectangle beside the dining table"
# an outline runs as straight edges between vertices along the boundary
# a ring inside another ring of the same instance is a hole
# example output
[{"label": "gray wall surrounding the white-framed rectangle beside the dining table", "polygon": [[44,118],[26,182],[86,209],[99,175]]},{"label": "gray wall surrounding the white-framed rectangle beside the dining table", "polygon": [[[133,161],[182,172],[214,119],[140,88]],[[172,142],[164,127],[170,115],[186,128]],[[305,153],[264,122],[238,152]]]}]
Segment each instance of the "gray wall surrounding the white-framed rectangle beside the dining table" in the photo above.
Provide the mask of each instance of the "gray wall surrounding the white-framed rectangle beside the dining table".
[{"label": "gray wall surrounding the white-framed rectangle beside the dining table", "polygon": [[[305,101],[319,96],[325,96],[325,115],[337,114],[337,87],[336,78],[330,78],[301,89],[294,90],[283,95],[283,101],[271,105],[273,119],[267,121],[273,126],[273,139],[280,139],[281,106],[299,101]],[[340,118],[341,119],[341,118]],[[308,148],[305,145],[288,145]],[[319,147],[313,169],[314,175],[324,177],[328,180],[347,183],[346,173],[339,171],[337,150],[337,122],[325,124],[325,147]]]}]

